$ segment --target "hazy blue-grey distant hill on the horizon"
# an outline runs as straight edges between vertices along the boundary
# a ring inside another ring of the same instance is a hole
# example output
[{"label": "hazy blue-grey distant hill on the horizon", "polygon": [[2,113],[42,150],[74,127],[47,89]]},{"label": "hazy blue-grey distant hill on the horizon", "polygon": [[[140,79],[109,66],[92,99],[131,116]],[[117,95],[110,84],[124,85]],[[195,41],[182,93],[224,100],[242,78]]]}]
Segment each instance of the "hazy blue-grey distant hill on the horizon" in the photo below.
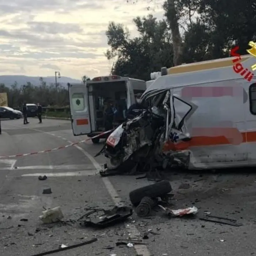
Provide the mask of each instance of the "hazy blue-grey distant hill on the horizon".
[{"label": "hazy blue-grey distant hill on the horizon", "polygon": [[[5,84],[5,86],[10,87],[15,82],[17,82],[18,85],[24,85],[27,84],[27,82],[31,82],[31,84],[37,86],[40,84],[39,76],[22,76],[22,75],[0,75],[0,84]],[[46,84],[55,84],[55,76],[47,76],[43,77],[43,80],[46,82]],[[68,78],[68,77],[61,77],[57,78],[57,82],[61,84],[62,86],[66,86],[66,84],[69,83],[81,83],[78,79]]]}]

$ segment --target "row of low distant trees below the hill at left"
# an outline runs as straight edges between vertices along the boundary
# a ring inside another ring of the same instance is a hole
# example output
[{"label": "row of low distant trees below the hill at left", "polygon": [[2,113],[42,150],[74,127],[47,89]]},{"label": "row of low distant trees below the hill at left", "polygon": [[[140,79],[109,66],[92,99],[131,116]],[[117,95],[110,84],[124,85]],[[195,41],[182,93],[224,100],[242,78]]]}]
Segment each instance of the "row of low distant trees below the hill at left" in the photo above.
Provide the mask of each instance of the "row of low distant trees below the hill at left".
[{"label": "row of low distant trees below the hill at left", "polygon": [[68,90],[59,85],[56,91],[55,85],[47,85],[43,78],[39,79],[39,85],[37,86],[32,85],[30,82],[22,86],[18,86],[15,83],[11,87],[0,84],[1,92],[7,93],[10,107],[20,107],[23,102],[35,104],[39,102],[42,106],[62,107],[69,105]]}]

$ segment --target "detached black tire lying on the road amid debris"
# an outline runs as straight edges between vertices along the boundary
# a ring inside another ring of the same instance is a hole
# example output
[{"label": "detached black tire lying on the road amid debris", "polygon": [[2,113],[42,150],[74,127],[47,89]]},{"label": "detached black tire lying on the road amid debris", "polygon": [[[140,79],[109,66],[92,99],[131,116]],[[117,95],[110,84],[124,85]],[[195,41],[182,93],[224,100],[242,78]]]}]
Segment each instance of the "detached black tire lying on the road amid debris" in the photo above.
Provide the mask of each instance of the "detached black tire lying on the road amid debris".
[{"label": "detached black tire lying on the road amid debris", "polygon": [[134,206],[138,206],[143,197],[161,197],[172,191],[172,187],[169,181],[159,181],[155,184],[138,188],[130,192],[130,201]]}]

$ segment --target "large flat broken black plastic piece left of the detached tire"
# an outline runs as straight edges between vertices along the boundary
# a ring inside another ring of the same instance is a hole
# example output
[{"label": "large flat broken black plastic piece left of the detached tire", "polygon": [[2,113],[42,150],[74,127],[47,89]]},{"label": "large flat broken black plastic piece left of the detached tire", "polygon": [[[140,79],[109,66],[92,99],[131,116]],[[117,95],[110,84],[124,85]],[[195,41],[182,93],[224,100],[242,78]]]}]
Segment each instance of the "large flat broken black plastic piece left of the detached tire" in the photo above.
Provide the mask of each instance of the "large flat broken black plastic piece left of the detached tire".
[{"label": "large flat broken black plastic piece left of the detached tire", "polygon": [[122,206],[111,210],[94,209],[78,219],[80,225],[93,228],[106,228],[120,222],[124,222],[133,213],[132,208]]}]

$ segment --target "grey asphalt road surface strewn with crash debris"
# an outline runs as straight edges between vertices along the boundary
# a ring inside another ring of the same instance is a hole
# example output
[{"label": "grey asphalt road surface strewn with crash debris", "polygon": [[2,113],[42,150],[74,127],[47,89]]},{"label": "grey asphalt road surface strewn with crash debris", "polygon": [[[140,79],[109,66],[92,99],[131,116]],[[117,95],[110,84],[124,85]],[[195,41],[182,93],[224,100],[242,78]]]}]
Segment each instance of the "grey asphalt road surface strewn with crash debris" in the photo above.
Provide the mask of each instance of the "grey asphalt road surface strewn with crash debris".
[{"label": "grey asphalt road surface strewn with crash debris", "polygon": [[[25,154],[78,142],[69,121],[29,119],[1,121],[0,156]],[[173,209],[198,207],[212,215],[236,219],[240,227],[204,222],[198,218],[164,217],[156,208],[149,218],[128,220],[108,229],[82,228],[77,223],[43,225],[38,216],[43,208],[60,206],[64,220],[76,220],[88,209],[110,208],[115,203],[129,205],[129,192],[148,185],[135,176],[97,175],[105,163],[102,156],[93,158],[103,144],[80,143],[58,151],[17,158],[0,158],[0,255],[31,256],[91,239],[98,241],[58,252],[56,256],[247,256],[256,254],[254,237],[256,175],[248,170],[220,173],[171,172]],[[38,175],[48,176],[39,181]],[[180,189],[181,183],[190,185]],[[52,194],[42,194],[50,187]],[[27,222],[20,219],[26,218]],[[154,234],[151,234],[152,230]],[[148,245],[129,248],[116,246],[118,239],[149,232]],[[111,248],[111,249],[106,249]]]}]

